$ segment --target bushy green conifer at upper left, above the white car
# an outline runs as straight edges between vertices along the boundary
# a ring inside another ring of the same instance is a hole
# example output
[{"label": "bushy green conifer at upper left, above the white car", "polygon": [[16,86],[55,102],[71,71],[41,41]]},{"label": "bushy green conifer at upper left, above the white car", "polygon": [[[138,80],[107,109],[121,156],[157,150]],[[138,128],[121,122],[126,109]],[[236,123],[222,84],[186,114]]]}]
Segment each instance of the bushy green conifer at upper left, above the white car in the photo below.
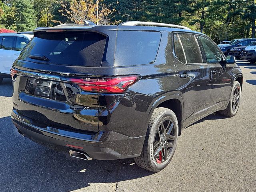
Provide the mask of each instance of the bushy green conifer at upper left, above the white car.
[{"label": "bushy green conifer at upper left, above the white car", "polygon": [[30,0],[13,0],[16,31],[34,30],[36,16]]}]

